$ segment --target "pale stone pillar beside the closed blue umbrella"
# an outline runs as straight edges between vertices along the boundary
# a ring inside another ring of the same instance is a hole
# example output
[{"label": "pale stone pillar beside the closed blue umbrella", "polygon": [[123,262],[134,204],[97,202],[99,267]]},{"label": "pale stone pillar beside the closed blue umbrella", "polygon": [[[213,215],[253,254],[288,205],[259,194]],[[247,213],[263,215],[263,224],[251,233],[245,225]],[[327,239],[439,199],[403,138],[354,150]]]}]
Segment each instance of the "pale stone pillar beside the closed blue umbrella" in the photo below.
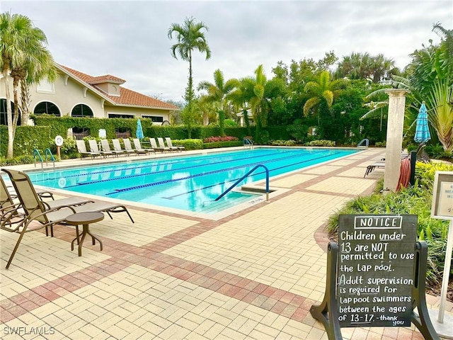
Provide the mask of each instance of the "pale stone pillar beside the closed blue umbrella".
[{"label": "pale stone pillar beside the closed blue umbrella", "polygon": [[387,136],[385,152],[384,192],[396,191],[401,168],[401,149],[403,147],[403,123],[406,94],[409,91],[388,89],[389,114],[387,118]]}]

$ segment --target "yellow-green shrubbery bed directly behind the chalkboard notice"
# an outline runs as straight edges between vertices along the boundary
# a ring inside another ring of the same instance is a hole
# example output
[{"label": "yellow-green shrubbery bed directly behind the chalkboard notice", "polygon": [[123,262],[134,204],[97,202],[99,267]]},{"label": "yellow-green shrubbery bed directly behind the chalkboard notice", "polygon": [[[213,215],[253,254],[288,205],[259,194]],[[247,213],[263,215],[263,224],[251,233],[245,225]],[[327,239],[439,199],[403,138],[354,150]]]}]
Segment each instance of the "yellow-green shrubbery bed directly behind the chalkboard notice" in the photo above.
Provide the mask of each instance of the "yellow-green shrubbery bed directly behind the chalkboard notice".
[{"label": "yellow-green shrubbery bed directly behind the chalkboard notice", "polygon": [[[428,243],[428,285],[437,285],[445,263],[448,222],[432,219],[431,201],[435,171],[453,171],[452,164],[417,162],[415,185],[398,192],[374,193],[350,200],[344,208],[329,217],[328,232],[331,239],[338,239],[340,214],[411,214],[418,215],[418,239]],[[381,187],[382,187],[382,183]]]}]

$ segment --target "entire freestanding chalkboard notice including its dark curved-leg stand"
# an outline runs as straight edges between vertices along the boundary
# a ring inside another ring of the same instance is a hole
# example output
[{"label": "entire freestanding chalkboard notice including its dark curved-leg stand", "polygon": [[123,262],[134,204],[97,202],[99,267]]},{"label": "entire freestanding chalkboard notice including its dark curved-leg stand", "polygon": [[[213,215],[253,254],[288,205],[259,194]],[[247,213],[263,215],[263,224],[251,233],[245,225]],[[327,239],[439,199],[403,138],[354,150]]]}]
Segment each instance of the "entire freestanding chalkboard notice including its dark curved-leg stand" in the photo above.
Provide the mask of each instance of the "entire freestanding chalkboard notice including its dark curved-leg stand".
[{"label": "entire freestanding chalkboard notice including its dark curved-leg stand", "polygon": [[425,303],[428,246],[416,242],[416,231],[417,215],[340,215],[324,300],[310,310],[328,339],[343,339],[341,327],[411,323],[425,339],[439,339]]}]

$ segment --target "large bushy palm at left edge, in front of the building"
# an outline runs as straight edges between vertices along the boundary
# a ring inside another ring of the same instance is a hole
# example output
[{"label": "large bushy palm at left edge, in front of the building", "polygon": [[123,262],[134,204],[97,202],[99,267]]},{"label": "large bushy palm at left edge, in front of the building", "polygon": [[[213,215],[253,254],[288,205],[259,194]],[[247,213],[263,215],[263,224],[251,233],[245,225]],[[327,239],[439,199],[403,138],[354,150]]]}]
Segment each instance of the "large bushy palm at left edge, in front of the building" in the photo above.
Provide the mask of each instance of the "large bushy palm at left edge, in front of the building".
[{"label": "large bushy palm at left edge, in front of the building", "polygon": [[[52,57],[44,47],[46,42],[42,30],[35,28],[28,17],[20,14],[11,15],[8,12],[0,14],[0,68],[4,75],[6,90],[8,158],[13,157],[13,142],[18,122],[18,84],[21,79],[28,79],[30,83],[38,81],[48,71]],[[14,115],[9,105],[10,77],[13,77]]]}]

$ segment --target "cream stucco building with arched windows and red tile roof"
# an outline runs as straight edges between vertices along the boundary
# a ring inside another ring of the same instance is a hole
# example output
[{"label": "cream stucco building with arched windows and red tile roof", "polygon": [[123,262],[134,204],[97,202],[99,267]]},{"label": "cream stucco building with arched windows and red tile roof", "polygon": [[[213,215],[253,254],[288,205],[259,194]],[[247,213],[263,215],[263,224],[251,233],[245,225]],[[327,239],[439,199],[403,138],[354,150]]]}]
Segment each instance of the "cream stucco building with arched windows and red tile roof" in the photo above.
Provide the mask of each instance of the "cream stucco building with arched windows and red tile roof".
[{"label": "cream stucco building with arched windows and red tile roof", "polygon": [[[55,64],[58,77],[30,86],[30,113],[95,118],[150,118],[156,124],[170,121],[173,106],[122,86],[124,79],[110,74],[93,77]],[[10,84],[13,100],[12,79]],[[20,92],[20,91],[19,91]],[[6,125],[6,90],[0,76],[0,124]]]}]

